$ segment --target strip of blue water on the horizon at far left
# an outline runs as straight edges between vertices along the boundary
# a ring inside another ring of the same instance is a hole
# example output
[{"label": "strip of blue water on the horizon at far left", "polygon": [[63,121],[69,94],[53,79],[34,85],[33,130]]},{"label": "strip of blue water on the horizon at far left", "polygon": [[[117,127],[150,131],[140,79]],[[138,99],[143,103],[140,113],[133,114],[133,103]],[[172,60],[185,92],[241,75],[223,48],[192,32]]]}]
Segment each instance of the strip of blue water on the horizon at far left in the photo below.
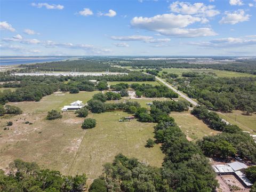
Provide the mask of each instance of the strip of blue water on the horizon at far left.
[{"label": "strip of blue water on the horizon at far left", "polygon": [[69,58],[55,58],[55,57],[45,57],[45,58],[0,58],[0,66],[9,66],[9,65],[21,65],[29,63],[42,63],[42,62],[51,62],[51,61],[60,61]]}]

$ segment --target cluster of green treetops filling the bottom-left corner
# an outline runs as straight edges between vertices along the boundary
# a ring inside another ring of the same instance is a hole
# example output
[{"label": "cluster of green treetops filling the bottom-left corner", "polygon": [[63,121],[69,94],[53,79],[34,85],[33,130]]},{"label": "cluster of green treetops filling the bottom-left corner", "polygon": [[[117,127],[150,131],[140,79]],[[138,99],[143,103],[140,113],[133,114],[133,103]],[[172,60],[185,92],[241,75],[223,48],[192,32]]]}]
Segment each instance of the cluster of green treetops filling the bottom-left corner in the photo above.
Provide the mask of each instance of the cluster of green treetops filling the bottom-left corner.
[{"label": "cluster of green treetops filling the bottom-left corner", "polygon": [[36,163],[14,160],[9,173],[0,170],[0,191],[65,191],[82,192],[86,188],[86,175],[62,175],[59,171],[40,169]]}]

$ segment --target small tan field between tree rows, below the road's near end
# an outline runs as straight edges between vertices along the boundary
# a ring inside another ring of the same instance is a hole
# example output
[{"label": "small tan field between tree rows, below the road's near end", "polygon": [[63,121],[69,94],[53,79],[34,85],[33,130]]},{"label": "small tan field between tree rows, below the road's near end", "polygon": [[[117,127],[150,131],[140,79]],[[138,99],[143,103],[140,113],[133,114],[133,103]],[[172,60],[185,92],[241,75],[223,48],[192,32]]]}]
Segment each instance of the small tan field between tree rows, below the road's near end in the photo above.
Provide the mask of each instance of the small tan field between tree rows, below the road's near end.
[{"label": "small tan field between tree rows, below the road's near end", "polygon": [[188,137],[188,140],[202,139],[206,135],[215,135],[218,131],[210,129],[203,121],[190,114],[190,111],[171,112],[180,129]]}]

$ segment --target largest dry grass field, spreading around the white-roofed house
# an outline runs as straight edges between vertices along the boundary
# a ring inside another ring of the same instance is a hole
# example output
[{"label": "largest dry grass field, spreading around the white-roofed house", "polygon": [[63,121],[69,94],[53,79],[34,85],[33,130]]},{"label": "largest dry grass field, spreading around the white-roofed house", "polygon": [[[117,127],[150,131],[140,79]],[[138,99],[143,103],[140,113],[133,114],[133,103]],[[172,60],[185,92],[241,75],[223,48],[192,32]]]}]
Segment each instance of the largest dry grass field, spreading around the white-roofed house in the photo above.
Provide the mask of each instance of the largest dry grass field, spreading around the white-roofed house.
[{"label": "largest dry grass field, spreading around the white-roofed house", "polygon": [[[74,100],[89,100],[95,92],[78,94],[54,93],[39,102],[9,103],[19,106],[23,114],[0,118],[0,169],[16,158],[35,161],[44,168],[59,170],[63,174],[86,173],[97,178],[102,164],[111,162],[118,153],[138,158],[153,166],[161,166],[164,155],[159,145],[146,148],[148,138],[154,136],[154,123],[118,122],[123,111],[89,114],[97,120],[90,130],[81,129],[84,118],[74,112],[62,113],[62,119],[47,121],[47,111],[60,109]],[[10,130],[3,130],[12,121]],[[25,124],[29,121],[33,124]]]}]

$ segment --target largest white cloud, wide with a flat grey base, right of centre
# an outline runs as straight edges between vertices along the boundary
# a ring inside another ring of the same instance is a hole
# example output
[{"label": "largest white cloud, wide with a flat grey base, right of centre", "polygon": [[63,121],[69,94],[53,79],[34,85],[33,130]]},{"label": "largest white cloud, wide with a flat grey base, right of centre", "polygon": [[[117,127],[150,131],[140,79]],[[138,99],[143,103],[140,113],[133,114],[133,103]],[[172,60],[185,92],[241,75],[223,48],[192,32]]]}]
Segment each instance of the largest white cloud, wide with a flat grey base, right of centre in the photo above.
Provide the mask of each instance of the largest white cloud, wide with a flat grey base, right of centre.
[{"label": "largest white cloud, wide with a flat grey base, right of centre", "polygon": [[155,15],[151,18],[134,17],[131,20],[131,25],[135,28],[156,31],[162,35],[177,36],[177,37],[199,37],[199,36],[214,36],[217,35],[211,28],[191,28],[185,27],[196,23],[205,23],[205,18],[193,17],[191,15],[175,15],[162,14]]}]

